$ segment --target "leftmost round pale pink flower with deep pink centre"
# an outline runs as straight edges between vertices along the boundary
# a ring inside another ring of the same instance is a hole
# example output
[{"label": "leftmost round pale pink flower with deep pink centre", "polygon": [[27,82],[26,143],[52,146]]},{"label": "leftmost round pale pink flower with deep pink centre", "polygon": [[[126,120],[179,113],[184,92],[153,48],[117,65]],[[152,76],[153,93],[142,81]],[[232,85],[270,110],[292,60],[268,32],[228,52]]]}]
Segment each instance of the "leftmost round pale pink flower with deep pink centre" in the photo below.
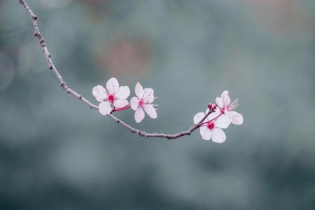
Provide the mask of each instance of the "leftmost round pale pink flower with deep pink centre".
[{"label": "leftmost round pale pink flower with deep pink centre", "polygon": [[93,88],[92,94],[97,101],[101,102],[99,105],[99,112],[106,115],[112,111],[111,104],[117,108],[122,108],[128,105],[127,98],[130,95],[130,89],[128,86],[119,87],[117,79],[111,78],[106,83],[106,90],[103,86],[98,85]]}]

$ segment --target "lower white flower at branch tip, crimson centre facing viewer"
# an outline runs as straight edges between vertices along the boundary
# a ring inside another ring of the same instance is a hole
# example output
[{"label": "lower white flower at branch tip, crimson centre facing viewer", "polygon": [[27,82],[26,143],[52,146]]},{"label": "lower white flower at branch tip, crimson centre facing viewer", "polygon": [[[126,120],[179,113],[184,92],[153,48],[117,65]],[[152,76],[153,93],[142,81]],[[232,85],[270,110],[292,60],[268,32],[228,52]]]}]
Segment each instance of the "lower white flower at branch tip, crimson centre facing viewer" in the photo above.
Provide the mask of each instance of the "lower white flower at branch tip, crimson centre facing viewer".
[{"label": "lower white flower at branch tip, crimson centre facing viewer", "polygon": [[[206,113],[209,112],[209,109],[206,110]],[[231,120],[226,115],[220,115],[220,110],[217,108],[215,112],[212,112],[209,116],[207,116],[204,120],[204,124],[200,126],[200,134],[201,137],[205,140],[210,140],[212,138],[213,142],[222,143],[225,141],[226,136],[223,132],[222,128],[227,128],[231,123]],[[194,123],[197,124],[200,120],[205,116],[203,112],[199,112],[194,116]],[[219,116],[218,118],[216,118]],[[216,118],[215,120],[209,119]]]}]

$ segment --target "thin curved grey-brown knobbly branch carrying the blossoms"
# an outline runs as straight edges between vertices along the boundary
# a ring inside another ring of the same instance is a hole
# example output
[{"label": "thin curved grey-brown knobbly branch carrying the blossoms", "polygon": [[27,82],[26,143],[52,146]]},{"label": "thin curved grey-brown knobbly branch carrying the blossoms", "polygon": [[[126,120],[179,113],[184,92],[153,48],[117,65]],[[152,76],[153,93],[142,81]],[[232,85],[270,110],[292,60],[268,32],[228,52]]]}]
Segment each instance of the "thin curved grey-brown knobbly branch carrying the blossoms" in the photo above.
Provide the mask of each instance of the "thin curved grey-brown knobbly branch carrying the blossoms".
[{"label": "thin curved grey-brown knobbly branch carrying the blossoms", "polygon": [[[48,52],[48,49],[46,47],[46,43],[45,40],[43,39],[42,35],[40,34],[36,19],[37,16],[32,12],[32,10],[29,8],[29,6],[26,4],[26,2],[24,0],[20,0],[20,3],[24,6],[24,8],[26,9],[26,11],[28,12],[28,14],[30,15],[32,22],[33,22],[33,27],[34,27],[34,36],[37,36],[40,42],[40,45],[43,49],[43,53],[45,54],[46,60],[49,64],[49,69],[51,69],[56,78],[58,79],[60,86],[67,91],[67,93],[71,94],[72,96],[74,96],[75,98],[83,101],[84,103],[86,103],[90,108],[99,110],[99,107],[94,105],[93,103],[91,103],[90,101],[88,101],[87,99],[85,99],[83,96],[81,96],[80,94],[77,94],[75,91],[71,90],[66,83],[62,80],[61,75],[58,73],[56,67],[54,66],[52,60],[51,60],[51,55]],[[188,130],[186,131],[182,131],[179,132],[177,134],[164,134],[164,133],[146,133],[143,132],[141,130],[137,130],[133,127],[131,127],[130,125],[124,123],[123,121],[121,121],[120,119],[118,119],[117,117],[115,117],[112,114],[107,114],[110,118],[112,118],[113,120],[115,120],[116,122],[118,122],[119,124],[125,126],[126,128],[128,128],[131,132],[133,133],[137,133],[140,136],[144,136],[144,137],[165,137],[168,139],[173,139],[173,138],[178,138],[184,135],[190,135],[192,131],[194,131],[195,129],[197,129],[198,127],[201,126],[201,122],[206,118],[206,116],[204,117],[204,119],[200,120],[200,122],[198,124],[193,125],[192,127],[190,127]]]}]

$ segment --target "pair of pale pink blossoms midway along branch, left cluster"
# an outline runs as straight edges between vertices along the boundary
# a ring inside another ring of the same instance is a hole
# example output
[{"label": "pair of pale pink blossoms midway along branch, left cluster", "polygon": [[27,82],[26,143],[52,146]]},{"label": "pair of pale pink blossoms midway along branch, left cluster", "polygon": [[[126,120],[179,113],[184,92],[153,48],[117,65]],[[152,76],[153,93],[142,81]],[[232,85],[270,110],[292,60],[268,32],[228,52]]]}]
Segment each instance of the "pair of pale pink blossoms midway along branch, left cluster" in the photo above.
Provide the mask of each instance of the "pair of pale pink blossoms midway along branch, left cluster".
[{"label": "pair of pale pink blossoms midway along branch, left cluster", "polygon": [[101,85],[94,87],[92,94],[100,102],[99,112],[102,115],[131,108],[135,111],[134,119],[136,122],[141,122],[144,118],[144,111],[151,118],[156,118],[157,115],[154,108],[156,105],[152,104],[155,99],[153,96],[154,91],[151,88],[143,89],[140,83],[136,84],[134,91],[136,97],[131,98],[130,106],[127,100],[130,95],[130,89],[128,86],[119,86],[116,78],[109,79],[106,83],[106,88]]}]

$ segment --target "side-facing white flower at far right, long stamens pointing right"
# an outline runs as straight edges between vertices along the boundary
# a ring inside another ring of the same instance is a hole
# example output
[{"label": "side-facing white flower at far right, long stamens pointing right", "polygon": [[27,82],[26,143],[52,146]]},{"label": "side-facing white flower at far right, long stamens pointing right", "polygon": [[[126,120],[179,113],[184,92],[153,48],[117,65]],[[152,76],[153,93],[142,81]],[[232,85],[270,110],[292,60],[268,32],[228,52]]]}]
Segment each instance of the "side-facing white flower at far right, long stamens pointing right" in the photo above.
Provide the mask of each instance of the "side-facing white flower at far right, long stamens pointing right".
[{"label": "side-facing white flower at far right, long stamens pointing right", "polygon": [[221,113],[227,115],[231,119],[231,122],[235,125],[240,125],[243,123],[242,114],[232,111],[239,106],[238,101],[239,99],[237,98],[231,103],[228,91],[223,91],[221,97],[216,97],[215,99],[216,105],[221,108]]}]

